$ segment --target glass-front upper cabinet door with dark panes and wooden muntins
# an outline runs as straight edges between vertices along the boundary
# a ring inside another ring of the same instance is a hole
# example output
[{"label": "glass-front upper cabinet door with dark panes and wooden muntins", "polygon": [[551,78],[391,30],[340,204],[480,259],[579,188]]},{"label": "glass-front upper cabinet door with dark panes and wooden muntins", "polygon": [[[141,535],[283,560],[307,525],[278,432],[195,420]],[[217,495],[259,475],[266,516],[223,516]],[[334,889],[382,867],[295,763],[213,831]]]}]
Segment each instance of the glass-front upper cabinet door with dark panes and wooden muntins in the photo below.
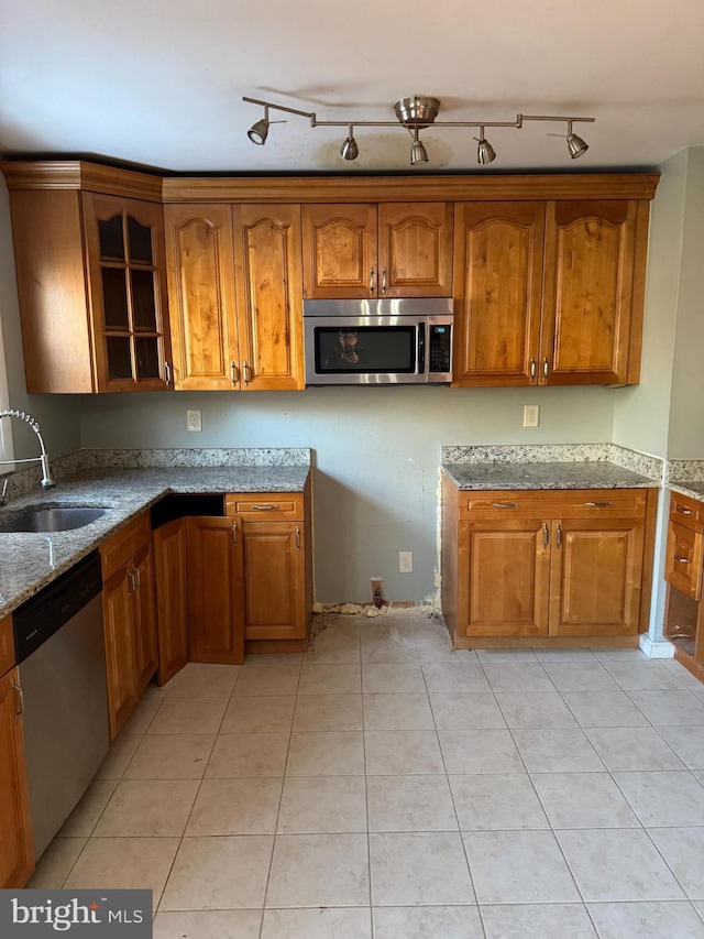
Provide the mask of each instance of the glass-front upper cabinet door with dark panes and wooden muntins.
[{"label": "glass-front upper cabinet door with dark panes and wooden muntins", "polygon": [[98,391],[170,387],[162,207],[84,195]]}]

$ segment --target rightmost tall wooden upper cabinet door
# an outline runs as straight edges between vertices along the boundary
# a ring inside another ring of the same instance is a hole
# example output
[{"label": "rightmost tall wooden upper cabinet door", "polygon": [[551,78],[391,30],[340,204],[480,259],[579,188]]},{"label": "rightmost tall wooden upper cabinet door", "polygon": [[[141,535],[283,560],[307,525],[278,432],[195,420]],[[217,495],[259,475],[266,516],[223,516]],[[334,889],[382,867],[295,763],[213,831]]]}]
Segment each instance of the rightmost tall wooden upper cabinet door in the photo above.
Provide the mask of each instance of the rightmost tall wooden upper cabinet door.
[{"label": "rightmost tall wooden upper cabinet door", "polygon": [[616,384],[628,371],[638,204],[548,203],[540,381]]}]

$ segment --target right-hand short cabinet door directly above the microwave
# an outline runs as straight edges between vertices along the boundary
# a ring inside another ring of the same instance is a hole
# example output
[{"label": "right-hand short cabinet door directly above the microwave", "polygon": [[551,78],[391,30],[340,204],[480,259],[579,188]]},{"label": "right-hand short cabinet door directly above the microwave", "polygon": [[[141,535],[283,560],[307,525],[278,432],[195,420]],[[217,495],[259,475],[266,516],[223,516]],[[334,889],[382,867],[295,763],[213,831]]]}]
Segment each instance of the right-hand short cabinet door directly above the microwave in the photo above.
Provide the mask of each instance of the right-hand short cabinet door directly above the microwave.
[{"label": "right-hand short cabinet door directly above the microwave", "polygon": [[381,203],[378,295],[452,294],[452,203]]}]

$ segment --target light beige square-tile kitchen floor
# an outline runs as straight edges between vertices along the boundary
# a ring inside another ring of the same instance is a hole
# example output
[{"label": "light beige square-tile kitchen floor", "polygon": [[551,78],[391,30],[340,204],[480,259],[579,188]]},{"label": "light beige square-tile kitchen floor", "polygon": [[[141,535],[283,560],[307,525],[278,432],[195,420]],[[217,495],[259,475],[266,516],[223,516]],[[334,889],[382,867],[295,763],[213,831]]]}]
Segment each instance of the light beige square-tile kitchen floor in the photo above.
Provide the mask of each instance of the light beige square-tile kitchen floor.
[{"label": "light beige square-tile kitchen floor", "polygon": [[413,610],[151,687],[31,886],[156,939],[704,939],[704,686]]}]

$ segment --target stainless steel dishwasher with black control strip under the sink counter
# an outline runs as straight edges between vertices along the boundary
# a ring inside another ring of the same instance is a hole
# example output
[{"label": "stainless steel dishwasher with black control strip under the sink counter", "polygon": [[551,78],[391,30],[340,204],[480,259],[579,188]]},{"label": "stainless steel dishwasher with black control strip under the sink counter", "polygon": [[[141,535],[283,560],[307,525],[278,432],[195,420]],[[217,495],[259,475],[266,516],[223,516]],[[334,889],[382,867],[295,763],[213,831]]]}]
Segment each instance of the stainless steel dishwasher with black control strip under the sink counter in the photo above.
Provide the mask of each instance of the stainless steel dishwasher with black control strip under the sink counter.
[{"label": "stainless steel dishwasher with black control strip under the sink counter", "polygon": [[100,557],[14,612],[34,856],[84,795],[110,745]]}]

